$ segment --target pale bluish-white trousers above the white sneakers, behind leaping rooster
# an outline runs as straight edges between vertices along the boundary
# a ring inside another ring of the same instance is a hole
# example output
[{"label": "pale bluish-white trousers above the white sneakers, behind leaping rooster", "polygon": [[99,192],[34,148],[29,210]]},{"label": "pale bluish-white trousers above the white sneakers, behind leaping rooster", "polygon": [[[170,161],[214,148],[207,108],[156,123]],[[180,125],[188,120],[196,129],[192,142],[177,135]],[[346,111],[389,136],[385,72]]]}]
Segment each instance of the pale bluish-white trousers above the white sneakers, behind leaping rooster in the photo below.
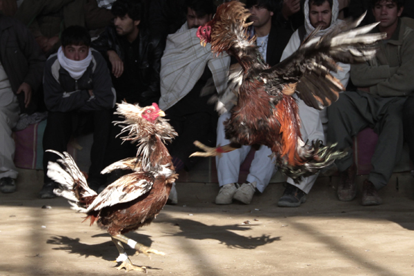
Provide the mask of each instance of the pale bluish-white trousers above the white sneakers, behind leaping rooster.
[{"label": "pale bluish-white trousers above the white sneakers, behind leaping rooster", "polygon": [[[217,146],[224,146],[230,144],[230,141],[226,139],[224,133],[223,122],[230,117],[230,113],[226,112],[219,117],[217,124]],[[250,152],[251,146],[242,146],[237,150],[226,152],[221,157],[216,157],[217,177],[219,179],[219,186],[223,186],[229,183],[237,183],[239,179],[240,165]],[[255,152],[255,158],[253,159],[249,174],[246,179],[248,182],[257,183],[257,190],[263,193],[266,186],[268,186],[270,178],[276,172],[275,161],[270,159],[269,155],[272,154],[272,150],[266,146],[260,146],[259,150]]]}]

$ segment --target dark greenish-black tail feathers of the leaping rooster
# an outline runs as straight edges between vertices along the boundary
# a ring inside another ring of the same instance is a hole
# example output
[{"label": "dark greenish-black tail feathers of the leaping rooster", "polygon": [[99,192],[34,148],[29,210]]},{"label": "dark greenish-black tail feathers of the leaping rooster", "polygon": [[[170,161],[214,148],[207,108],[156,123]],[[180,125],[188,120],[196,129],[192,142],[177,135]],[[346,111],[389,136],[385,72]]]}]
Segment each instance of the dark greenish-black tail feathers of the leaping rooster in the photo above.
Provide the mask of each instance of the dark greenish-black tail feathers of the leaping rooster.
[{"label": "dark greenish-black tail feathers of the leaping rooster", "polygon": [[336,159],[341,159],[348,154],[346,151],[336,150],[335,147],[336,144],[324,146],[322,141],[316,140],[311,144],[298,146],[298,155],[304,161],[302,165],[292,166],[286,159],[280,158],[277,160],[277,166],[282,173],[298,183],[302,177],[315,175],[322,168],[331,166]]}]

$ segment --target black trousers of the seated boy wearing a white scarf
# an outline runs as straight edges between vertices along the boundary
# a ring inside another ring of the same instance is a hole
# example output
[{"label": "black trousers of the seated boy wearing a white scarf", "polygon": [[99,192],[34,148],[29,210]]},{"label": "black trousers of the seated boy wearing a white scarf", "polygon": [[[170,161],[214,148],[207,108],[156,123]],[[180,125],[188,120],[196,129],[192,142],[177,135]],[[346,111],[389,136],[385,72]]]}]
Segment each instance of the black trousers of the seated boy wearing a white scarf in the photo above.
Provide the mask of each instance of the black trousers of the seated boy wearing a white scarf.
[{"label": "black trousers of the seated boy wearing a white scarf", "polygon": [[[90,150],[90,168],[88,182],[103,184],[105,177],[101,170],[105,168],[104,158],[108,144],[110,119],[112,110],[96,110],[92,112],[49,112],[48,122],[43,134],[43,150],[66,151],[72,134],[77,130],[79,121],[92,121],[93,144]],[[44,183],[52,181],[47,175],[48,161],[56,162],[59,157],[52,152],[44,152]]]}]

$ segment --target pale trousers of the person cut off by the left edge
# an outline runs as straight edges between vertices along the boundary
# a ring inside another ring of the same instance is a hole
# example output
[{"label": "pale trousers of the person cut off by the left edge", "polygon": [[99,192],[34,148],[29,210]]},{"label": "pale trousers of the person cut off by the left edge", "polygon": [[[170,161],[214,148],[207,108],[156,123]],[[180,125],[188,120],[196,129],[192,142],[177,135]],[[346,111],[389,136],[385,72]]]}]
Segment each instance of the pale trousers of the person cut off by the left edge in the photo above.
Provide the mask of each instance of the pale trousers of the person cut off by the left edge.
[{"label": "pale trousers of the person cut off by the left edge", "polygon": [[14,166],[14,140],[12,138],[12,128],[19,121],[19,102],[14,97],[8,106],[0,106],[0,178],[17,178],[18,172]]}]

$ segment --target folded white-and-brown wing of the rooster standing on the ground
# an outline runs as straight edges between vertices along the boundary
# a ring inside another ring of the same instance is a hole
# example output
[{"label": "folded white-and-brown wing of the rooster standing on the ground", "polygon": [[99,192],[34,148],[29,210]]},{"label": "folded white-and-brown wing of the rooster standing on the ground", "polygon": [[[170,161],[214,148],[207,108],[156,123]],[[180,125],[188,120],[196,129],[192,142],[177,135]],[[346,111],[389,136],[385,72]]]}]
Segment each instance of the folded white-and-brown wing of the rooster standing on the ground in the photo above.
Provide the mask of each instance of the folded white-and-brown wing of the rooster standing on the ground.
[{"label": "folded white-and-brown wing of the rooster standing on the ground", "polygon": [[133,172],[124,175],[97,195],[88,206],[86,213],[137,199],[151,190],[154,181],[155,177],[150,172]]}]

